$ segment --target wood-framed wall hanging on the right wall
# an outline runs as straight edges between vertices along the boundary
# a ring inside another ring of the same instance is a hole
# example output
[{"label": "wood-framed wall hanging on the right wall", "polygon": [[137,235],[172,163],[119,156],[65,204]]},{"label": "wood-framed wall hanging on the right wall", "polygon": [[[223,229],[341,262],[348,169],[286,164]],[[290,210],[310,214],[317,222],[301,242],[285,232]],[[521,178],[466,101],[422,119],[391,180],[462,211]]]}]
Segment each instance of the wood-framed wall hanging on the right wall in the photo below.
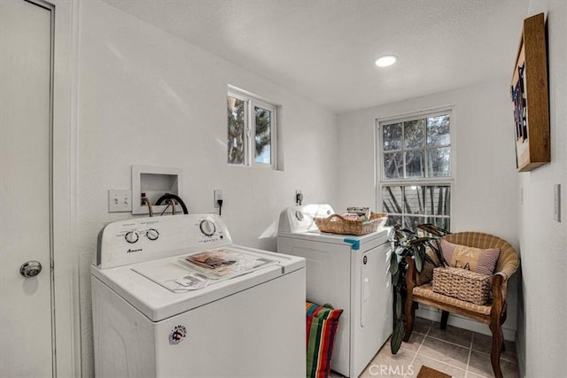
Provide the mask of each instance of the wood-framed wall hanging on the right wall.
[{"label": "wood-framed wall hanging on the right wall", "polygon": [[548,53],[543,13],[524,19],[510,94],[517,171],[531,171],[551,160]]}]

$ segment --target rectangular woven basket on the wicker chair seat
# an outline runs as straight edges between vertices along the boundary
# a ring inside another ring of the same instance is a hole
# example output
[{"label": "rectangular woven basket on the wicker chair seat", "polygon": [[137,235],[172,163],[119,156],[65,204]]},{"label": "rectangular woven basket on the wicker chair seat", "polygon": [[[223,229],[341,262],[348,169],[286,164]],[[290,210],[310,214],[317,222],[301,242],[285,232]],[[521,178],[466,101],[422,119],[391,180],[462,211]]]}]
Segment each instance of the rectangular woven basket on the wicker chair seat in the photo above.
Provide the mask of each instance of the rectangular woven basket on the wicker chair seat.
[{"label": "rectangular woven basket on the wicker chair seat", "polygon": [[459,267],[433,269],[433,291],[473,303],[485,305],[490,297],[492,277]]}]

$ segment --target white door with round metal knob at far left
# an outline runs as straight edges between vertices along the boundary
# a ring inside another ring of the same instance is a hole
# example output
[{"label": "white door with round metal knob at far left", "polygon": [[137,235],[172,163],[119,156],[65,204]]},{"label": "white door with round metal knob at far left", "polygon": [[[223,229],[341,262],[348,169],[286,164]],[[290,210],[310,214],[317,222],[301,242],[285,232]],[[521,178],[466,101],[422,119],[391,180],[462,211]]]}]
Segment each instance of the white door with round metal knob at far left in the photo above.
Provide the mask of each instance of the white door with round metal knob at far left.
[{"label": "white door with round metal knob at far left", "polygon": [[2,377],[52,375],[51,24],[47,5],[0,1]]}]

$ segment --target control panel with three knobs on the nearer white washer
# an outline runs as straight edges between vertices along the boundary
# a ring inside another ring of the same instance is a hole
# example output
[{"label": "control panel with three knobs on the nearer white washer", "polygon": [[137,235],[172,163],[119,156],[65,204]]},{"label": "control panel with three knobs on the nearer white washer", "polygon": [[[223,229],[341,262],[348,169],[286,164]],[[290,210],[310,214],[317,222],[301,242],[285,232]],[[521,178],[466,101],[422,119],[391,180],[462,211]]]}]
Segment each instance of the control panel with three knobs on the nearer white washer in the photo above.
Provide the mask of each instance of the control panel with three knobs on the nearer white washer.
[{"label": "control panel with three knobs on the nearer white washer", "polygon": [[98,233],[93,264],[105,269],[231,243],[229,230],[216,214],[120,220],[109,223]]}]

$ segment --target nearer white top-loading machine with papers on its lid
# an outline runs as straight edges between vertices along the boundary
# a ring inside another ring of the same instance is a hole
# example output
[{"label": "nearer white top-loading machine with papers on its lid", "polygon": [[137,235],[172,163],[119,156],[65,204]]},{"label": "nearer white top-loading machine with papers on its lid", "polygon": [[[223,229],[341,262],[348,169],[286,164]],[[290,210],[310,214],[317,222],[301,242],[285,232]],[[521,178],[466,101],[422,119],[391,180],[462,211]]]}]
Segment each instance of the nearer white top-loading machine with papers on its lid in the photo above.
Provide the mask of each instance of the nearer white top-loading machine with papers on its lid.
[{"label": "nearer white top-loading machine with papers on its lid", "polygon": [[110,223],[91,267],[95,373],[304,377],[305,280],[304,258],[235,245],[214,214]]}]

